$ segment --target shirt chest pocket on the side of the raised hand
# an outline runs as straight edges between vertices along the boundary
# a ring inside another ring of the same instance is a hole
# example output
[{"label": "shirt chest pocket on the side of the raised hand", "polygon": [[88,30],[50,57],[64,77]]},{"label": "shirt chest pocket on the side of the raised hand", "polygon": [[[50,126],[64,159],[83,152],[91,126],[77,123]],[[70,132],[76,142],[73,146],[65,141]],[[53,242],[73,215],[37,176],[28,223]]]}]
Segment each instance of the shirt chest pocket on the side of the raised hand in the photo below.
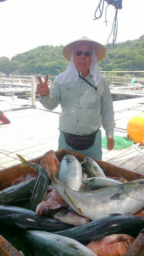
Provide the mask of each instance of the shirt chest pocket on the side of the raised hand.
[{"label": "shirt chest pocket on the side of the raised hand", "polygon": [[64,105],[75,105],[76,102],[76,86],[74,84],[62,85],[61,86],[61,104]]}]

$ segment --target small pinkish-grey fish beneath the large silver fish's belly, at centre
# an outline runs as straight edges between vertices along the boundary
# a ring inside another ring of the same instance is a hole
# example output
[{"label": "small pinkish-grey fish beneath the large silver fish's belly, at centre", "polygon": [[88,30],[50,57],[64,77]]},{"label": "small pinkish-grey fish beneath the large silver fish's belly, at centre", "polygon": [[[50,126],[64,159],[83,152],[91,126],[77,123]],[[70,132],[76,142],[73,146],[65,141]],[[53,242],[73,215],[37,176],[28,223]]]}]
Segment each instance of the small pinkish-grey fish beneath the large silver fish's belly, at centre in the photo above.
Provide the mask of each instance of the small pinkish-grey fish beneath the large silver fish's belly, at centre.
[{"label": "small pinkish-grey fish beneath the large silver fish's belly, at centre", "polygon": [[62,209],[59,212],[55,212],[51,214],[51,216],[55,220],[60,220],[73,226],[79,226],[89,222],[88,218],[79,215],[71,207],[68,209]]}]

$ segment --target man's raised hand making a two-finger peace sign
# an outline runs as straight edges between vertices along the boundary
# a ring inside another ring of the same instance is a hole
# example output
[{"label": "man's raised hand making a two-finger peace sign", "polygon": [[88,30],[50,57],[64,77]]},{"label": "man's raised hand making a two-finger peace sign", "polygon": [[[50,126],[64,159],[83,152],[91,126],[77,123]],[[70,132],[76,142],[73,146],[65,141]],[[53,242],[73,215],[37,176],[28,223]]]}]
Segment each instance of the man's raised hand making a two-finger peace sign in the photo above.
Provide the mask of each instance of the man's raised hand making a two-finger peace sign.
[{"label": "man's raised hand making a two-finger peace sign", "polygon": [[40,76],[37,76],[37,79],[39,81],[39,84],[36,84],[37,86],[37,92],[41,95],[41,96],[46,96],[49,94],[49,87],[48,87],[48,84],[47,84],[47,81],[48,81],[48,78],[49,76],[46,75],[45,76],[45,80],[44,80],[44,83],[42,82],[42,79],[40,78]]}]

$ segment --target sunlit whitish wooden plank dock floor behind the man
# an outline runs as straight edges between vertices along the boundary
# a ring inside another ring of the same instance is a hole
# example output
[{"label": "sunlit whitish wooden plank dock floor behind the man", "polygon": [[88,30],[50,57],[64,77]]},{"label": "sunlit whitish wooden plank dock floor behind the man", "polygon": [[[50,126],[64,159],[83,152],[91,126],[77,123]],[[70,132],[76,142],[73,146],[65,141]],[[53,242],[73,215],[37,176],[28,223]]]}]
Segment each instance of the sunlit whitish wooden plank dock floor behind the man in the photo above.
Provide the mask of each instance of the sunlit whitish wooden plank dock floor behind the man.
[{"label": "sunlit whitish wooden plank dock floor behind the man", "polygon": [[[126,136],[126,126],[131,116],[144,111],[144,97],[114,101],[115,136]],[[10,124],[0,122],[0,170],[20,163],[16,154],[26,160],[42,156],[50,149],[57,150],[59,138],[60,105],[46,110],[36,101],[36,109],[28,100],[12,100],[0,96],[0,110],[5,112]],[[17,110],[17,111],[16,111]],[[105,131],[101,127],[102,136]],[[111,150],[102,148],[102,160],[144,174],[144,154],[131,148]]]}]

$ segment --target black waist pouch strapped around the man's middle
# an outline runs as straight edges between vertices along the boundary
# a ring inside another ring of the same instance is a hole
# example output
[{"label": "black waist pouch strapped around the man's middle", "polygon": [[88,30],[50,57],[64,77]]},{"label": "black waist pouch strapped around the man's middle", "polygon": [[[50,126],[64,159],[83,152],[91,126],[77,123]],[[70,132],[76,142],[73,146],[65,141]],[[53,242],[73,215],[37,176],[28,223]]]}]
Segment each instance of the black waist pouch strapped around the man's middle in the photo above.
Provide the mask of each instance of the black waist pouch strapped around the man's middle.
[{"label": "black waist pouch strapped around the man's middle", "polygon": [[67,132],[63,132],[63,134],[68,146],[76,150],[85,150],[94,144],[95,136],[98,131],[93,132],[92,134],[89,134],[89,135],[84,135],[84,136],[75,135]]}]

